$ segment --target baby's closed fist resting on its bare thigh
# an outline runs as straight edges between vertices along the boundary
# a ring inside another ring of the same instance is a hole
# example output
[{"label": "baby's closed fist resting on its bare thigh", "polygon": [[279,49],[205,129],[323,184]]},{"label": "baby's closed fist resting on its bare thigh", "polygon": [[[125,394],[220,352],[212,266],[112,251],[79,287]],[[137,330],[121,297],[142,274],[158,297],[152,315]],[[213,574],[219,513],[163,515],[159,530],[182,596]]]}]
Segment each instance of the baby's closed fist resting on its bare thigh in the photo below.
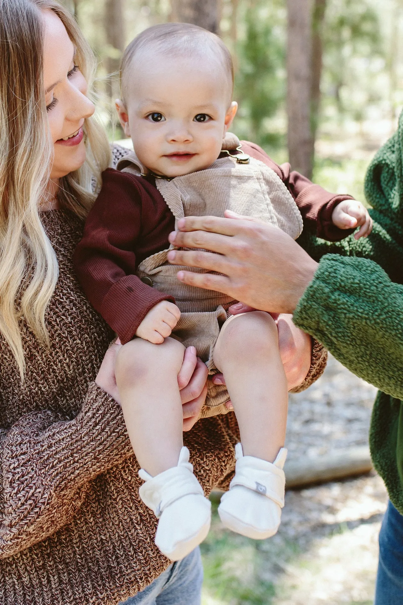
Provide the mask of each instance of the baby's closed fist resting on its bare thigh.
[{"label": "baby's closed fist resting on its bare thigh", "polygon": [[136,336],[153,344],[161,344],[175,328],[180,316],[181,312],[173,302],[158,302],[138,326]]}]

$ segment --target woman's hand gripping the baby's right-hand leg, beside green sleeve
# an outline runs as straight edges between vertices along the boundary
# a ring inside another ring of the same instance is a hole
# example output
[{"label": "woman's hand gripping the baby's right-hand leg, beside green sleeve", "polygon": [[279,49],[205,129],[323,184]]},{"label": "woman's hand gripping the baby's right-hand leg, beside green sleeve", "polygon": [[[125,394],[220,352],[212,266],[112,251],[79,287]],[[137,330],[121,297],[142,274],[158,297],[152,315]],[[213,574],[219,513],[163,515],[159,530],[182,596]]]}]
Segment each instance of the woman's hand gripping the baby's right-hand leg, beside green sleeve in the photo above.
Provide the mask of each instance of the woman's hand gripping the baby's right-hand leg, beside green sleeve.
[{"label": "woman's hand gripping the baby's right-hand leg, beside green sleeve", "polygon": [[[238,302],[228,309],[231,315],[254,311],[252,307]],[[297,328],[292,322],[292,315],[282,313],[271,314],[279,332],[279,351],[282,358],[288,390],[298,387],[306,378],[311,367],[312,341],[311,336]],[[222,374],[215,374],[214,384],[225,384]],[[231,404],[227,405],[231,409]]]}]

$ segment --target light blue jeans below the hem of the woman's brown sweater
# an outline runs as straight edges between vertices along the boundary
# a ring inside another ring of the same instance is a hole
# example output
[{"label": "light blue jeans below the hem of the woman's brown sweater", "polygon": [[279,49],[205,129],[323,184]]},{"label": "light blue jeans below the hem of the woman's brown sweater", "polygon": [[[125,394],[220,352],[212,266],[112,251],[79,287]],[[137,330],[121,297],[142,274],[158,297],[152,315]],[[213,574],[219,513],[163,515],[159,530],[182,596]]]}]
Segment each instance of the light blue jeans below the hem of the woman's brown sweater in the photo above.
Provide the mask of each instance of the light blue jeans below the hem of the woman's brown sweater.
[{"label": "light blue jeans below the hem of the woman's brown sweater", "polygon": [[149,586],[120,605],[200,605],[203,567],[200,549],[172,563]]}]

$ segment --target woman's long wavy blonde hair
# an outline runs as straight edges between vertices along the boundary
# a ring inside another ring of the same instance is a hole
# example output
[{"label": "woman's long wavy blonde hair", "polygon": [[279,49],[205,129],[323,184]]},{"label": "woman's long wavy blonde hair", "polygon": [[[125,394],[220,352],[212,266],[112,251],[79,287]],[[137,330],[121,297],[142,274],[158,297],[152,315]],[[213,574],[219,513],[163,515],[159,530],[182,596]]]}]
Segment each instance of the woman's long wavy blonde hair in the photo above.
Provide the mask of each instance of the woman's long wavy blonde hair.
[{"label": "woman's long wavy blonde hair", "polygon": [[[53,159],[44,92],[44,19],[51,10],[76,45],[76,60],[91,83],[94,57],[73,16],[52,0],[0,0],[0,331],[24,378],[19,321],[49,345],[45,322],[59,267],[40,220]],[[85,217],[94,201],[91,180],[109,165],[103,129],[83,127],[85,164],[61,180],[60,205]]]}]

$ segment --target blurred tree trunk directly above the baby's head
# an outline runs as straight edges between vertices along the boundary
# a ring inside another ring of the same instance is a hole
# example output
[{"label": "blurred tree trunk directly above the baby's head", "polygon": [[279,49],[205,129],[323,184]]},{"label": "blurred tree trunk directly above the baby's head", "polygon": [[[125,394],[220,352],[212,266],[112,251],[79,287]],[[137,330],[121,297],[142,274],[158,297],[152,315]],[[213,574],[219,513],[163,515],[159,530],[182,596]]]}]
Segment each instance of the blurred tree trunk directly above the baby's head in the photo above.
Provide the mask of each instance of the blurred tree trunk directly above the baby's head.
[{"label": "blurred tree trunk directly above the baby's head", "polygon": [[221,16],[219,0],[171,0],[171,21],[193,23],[218,33]]}]

